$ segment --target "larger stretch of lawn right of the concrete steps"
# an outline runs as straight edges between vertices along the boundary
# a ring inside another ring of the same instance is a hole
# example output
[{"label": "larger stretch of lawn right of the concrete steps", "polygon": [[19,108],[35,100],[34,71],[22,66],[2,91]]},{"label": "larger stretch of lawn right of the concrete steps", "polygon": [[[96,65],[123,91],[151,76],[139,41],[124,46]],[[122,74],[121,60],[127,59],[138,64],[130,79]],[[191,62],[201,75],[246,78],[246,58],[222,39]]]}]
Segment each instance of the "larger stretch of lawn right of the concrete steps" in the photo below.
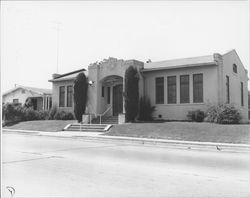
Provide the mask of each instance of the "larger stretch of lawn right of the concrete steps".
[{"label": "larger stretch of lawn right of the concrete steps", "polygon": [[250,143],[250,125],[165,122],[115,125],[105,135],[200,142]]}]

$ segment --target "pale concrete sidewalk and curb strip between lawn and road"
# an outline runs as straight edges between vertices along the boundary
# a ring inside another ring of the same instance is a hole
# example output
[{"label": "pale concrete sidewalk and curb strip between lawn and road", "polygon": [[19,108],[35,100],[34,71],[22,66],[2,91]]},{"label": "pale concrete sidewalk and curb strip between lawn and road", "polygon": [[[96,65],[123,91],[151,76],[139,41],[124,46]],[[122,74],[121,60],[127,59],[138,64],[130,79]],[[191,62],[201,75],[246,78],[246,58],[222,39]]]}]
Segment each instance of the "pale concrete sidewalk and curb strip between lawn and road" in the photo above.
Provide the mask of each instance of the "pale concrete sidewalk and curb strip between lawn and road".
[{"label": "pale concrete sidewalk and curb strip between lawn and road", "polygon": [[147,146],[164,146],[168,148],[180,149],[196,149],[196,150],[209,150],[219,152],[244,152],[250,153],[249,144],[229,144],[217,142],[198,142],[198,141],[180,141],[180,140],[167,140],[167,139],[152,139],[152,138],[136,138],[136,137],[123,137],[123,136],[108,136],[101,132],[73,132],[73,131],[60,131],[60,132],[44,132],[44,131],[29,131],[29,130],[16,130],[16,129],[3,129],[3,132],[23,133],[39,136],[61,137],[61,138],[78,138],[89,141],[103,141],[103,142],[117,142],[127,144],[143,144]]}]

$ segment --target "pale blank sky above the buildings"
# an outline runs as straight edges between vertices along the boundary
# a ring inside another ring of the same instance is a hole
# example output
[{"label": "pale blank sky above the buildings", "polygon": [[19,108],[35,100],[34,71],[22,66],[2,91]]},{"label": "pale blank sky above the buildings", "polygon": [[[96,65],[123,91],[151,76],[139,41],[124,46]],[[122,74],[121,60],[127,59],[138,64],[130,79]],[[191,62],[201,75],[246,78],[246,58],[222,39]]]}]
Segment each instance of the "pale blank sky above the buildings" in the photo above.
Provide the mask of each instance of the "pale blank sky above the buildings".
[{"label": "pale blank sky above the buildings", "polygon": [[162,61],[236,49],[249,70],[249,25],[249,1],[1,1],[1,90],[52,88],[53,73],[108,57]]}]

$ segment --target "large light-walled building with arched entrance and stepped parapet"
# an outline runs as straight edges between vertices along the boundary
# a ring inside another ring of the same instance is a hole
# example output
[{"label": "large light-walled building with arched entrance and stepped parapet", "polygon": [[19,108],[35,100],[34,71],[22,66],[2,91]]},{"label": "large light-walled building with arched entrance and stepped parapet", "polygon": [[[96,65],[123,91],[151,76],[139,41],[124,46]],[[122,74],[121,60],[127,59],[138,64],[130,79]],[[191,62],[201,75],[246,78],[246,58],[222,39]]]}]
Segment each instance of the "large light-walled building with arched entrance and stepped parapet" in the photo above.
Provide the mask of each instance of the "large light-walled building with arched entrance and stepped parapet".
[{"label": "large light-walled building with arched entrance and stepped parapet", "polygon": [[[155,106],[155,119],[186,120],[188,111],[230,103],[240,110],[242,121],[248,120],[247,70],[235,50],[160,62],[109,58],[91,64],[85,72],[93,82],[88,88],[87,113],[125,113],[124,75],[129,66],[139,72],[140,97],[148,97]],[[53,75],[53,105],[73,111],[73,83],[81,71]]]}]

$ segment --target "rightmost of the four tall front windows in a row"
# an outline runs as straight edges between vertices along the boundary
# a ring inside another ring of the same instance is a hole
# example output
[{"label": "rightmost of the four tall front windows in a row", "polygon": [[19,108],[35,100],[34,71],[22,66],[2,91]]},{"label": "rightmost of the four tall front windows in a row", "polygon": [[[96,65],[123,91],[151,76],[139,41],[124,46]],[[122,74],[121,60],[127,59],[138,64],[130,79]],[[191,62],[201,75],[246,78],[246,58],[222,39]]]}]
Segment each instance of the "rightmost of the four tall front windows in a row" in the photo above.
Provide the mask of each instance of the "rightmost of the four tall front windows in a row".
[{"label": "rightmost of the four tall front windows in a row", "polygon": [[203,102],[203,74],[193,75],[193,100],[194,103]]}]

